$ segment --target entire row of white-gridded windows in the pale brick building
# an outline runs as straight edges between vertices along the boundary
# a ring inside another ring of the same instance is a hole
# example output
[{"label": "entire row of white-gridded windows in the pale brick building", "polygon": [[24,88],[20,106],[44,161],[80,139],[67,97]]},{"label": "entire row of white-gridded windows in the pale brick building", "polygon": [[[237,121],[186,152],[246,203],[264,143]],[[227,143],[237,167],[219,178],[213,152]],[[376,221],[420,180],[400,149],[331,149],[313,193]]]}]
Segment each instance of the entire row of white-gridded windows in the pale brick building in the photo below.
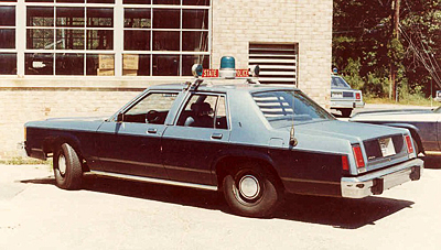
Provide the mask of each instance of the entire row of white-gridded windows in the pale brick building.
[{"label": "entire row of white-gridded windows in the pale brick building", "polygon": [[0,74],[191,76],[195,63],[209,67],[211,0],[1,2],[0,59],[9,61]]}]

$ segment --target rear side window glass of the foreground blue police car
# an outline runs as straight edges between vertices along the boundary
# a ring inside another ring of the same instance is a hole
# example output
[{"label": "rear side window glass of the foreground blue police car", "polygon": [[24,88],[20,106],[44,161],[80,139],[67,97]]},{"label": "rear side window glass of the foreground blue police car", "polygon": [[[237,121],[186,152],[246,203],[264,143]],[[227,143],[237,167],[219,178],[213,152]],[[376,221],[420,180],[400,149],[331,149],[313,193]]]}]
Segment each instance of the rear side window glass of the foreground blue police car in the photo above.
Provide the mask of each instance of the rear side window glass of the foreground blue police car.
[{"label": "rear side window glass of the foreground blue police car", "polygon": [[182,110],[178,126],[228,129],[225,97],[193,95]]}]

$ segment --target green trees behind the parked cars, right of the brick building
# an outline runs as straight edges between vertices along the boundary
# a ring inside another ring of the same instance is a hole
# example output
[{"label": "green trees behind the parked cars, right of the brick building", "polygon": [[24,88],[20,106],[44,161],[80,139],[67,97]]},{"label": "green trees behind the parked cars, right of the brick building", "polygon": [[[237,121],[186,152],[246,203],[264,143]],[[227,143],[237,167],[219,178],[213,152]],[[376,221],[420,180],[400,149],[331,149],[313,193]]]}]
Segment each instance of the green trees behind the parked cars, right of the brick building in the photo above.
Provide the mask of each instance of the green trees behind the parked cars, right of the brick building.
[{"label": "green trees behind the parked cars, right of the brick building", "polygon": [[429,70],[441,77],[441,0],[401,0],[399,39],[392,2],[334,0],[333,67],[365,96],[388,97],[392,66],[401,100],[427,98],[437,81]]}]

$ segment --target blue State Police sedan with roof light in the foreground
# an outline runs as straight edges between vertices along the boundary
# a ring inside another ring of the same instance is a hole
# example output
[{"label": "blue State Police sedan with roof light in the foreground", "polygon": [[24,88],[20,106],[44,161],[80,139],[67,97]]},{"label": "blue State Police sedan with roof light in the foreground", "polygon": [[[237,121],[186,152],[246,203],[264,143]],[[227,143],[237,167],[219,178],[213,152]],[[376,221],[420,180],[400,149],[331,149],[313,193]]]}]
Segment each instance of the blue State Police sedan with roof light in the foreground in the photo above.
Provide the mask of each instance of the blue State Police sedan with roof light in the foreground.
[{"label": "blue State Police sedan with roof light in the foreground", "polygon": [[202,188],[250,217],[286,193],[363,198],[420,178],[408,130],[338,121],[297,88],[236,77],[249,72],[232,57],[220,66],[196,65],[193,81],[149,87],[106,119],[30,121],[26,153],[53,157],[61,188],[86,174]]}]

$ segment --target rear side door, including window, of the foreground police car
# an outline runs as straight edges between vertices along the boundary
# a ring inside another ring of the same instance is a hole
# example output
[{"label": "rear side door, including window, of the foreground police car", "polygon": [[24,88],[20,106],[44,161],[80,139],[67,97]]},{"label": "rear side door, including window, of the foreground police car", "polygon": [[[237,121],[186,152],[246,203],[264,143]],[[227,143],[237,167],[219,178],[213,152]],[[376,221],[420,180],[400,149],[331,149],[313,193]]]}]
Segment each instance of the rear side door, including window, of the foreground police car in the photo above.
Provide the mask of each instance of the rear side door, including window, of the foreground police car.
[{"label": "rear side door, including window, of the foreground police car", "polygon": [[163,134],[162,159],[173,181],[213,185],[212,165],[229,141],[225,94],[193,93]]}]

